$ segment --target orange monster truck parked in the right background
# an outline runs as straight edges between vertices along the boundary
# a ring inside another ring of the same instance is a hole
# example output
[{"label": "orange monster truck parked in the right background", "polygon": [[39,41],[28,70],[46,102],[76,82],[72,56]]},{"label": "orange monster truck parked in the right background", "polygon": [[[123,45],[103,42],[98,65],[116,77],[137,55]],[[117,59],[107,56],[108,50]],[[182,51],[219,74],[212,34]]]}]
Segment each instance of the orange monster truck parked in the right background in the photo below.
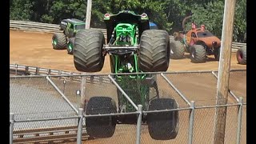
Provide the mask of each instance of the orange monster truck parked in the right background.
[{"label": "orange monster truck parked in the right background", "polygon": [[[170,58],[183,58],[184,53],[190,53],[191,62],[206,62],[207,55],[214,54],[215,60],[219,59],[221,41],[205,29],[204,25],[196,28],[192,23],[192,29],[185,31],[185,21],[191,16],[184,18],[183,31],[174,33],[174,41],[170,42]],[[183,46],[182,46],[183,45]]]}]

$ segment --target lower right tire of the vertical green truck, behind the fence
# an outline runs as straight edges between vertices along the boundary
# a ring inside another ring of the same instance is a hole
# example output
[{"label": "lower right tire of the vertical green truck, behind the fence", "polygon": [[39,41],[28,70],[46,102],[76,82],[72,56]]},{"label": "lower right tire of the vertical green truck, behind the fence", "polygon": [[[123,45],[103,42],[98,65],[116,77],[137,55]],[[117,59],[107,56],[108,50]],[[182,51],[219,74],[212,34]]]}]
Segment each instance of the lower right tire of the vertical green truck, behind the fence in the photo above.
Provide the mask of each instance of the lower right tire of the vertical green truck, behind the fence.
[{"label": "lower right tire of the vertical green truck, behind the fence", "polygon": [[[153,99],[149,106],[149,110],[173,110],[177,108],[177,102],[172,98]],[[149,113],[146,120],[151,138],[169,140],[178,135],[178,110]]]}]

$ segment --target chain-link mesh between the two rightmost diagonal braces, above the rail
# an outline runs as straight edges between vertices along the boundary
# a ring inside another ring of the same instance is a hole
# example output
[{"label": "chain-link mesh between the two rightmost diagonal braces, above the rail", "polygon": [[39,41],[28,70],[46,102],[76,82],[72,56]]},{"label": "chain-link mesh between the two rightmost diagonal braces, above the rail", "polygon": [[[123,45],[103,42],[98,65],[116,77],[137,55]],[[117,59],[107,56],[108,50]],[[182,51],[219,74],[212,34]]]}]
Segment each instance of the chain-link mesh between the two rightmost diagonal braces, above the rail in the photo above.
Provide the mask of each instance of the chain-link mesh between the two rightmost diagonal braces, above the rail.
[{"label": "chain-link mesh between the two rightmost diagonal braces, above the rail", "polygon": [[[195,106],[215,106],[217,94],[217,78],[210,72],[166,74],[174,86]],[[227,103],[235,99],[229,94]]]}]

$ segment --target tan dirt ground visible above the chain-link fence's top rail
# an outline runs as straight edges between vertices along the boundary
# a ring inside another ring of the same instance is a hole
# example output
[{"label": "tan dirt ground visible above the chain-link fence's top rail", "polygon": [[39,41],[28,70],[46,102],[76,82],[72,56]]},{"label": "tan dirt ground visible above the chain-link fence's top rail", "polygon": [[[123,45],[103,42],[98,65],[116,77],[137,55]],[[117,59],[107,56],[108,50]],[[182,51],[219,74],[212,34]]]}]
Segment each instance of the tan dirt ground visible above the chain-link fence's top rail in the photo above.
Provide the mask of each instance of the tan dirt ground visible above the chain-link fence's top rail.
[{"label": "tan dirt ground visible above the chain-link fence's top rail", "polygon": [[[54,50],[51,38],[52,34],[10,30],[10,64],[78,72],[74,67],[73,55],[67,54],[66,50]],[[238,64],[235,53],[232,53],[231,69],[246,69],[246,65]],[[181,70],[218,70],[218,61],[214,61],[214,56],[209,56],[205,63],[192,63],[190,58],[170,59],[167,71]],[[102,71],[98,73],[110,73],[108,56]]]}]

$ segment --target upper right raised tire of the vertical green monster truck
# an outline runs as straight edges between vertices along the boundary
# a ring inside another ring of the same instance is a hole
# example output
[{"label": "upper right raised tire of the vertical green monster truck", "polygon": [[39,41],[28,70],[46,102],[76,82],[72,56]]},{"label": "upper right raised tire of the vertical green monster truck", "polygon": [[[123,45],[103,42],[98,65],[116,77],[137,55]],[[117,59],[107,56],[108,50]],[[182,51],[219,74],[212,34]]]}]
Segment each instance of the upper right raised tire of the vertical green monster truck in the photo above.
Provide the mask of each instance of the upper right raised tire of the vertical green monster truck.
[{"label": "upper right raised tire of the vertical green monster truck", "polygon": [[170,38],[166,30],[144,30],[139,67],[144,72],[166,71],[170,62]]}]

